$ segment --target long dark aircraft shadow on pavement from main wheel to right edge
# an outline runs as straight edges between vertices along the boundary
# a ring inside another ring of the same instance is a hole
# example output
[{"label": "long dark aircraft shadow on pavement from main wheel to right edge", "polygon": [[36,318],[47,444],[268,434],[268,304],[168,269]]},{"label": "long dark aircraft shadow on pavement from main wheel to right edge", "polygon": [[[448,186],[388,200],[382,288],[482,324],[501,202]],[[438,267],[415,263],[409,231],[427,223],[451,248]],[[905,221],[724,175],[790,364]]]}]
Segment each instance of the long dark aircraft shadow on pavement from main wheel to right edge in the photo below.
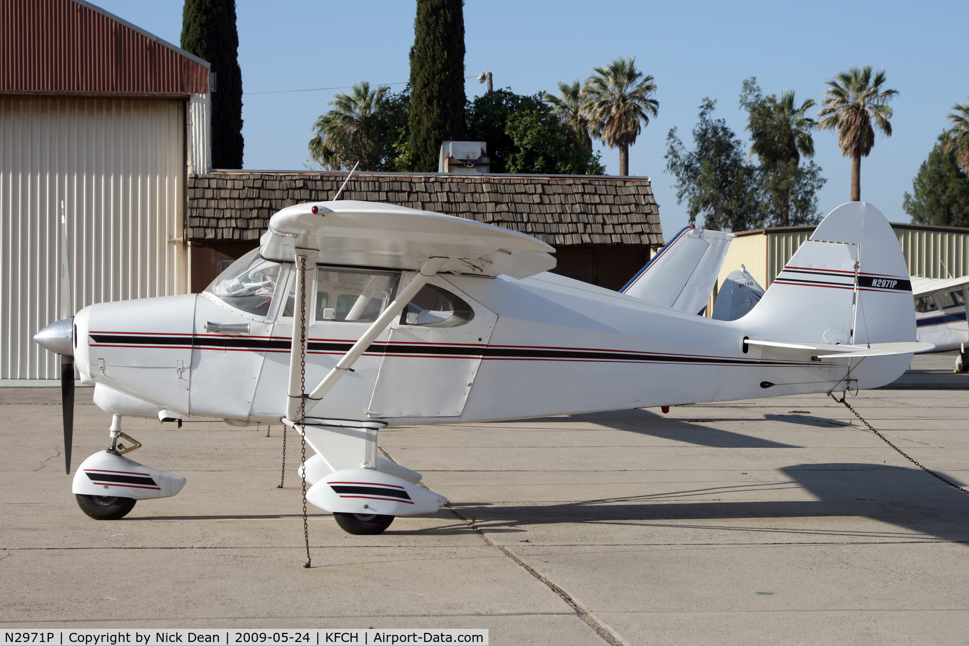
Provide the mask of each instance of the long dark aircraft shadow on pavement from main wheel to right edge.
[{"label": "long dark aircraft shadow on pavement from main wheel to right edge", "polygon": [[[864,463],[798,464],[780,470],[788,481],[728,485],[705,489],[679,491],[643,496],[627,496],[553,505],[504,505],[465,503],[454,505],[462,516],[478,518],[479,526],[487,532],[519,532],[528,526],[571,523],[641,522],[651,527],[695,527],[735,532],[783,532],[817,536],[819,530],[804,526],[801,529],[769,529],[763,523],[756,527],[716,526],[690,521],[729,520],[743,518],[810,518],[818,516],[864,516],[891,523],[907,530],[891,532],[832,529],[825,525],[822,534],[853,537],[914,538],[929,537],[945,540],[969,541],[969,496],[959,493],[940,480],[918,469]],[[945,474],[943,474],[945,475]],[[950,477],[953,481],[957,479]],[[684,497],[703,495],[725,496],[745,491],[802,488],[819,498],[816,501],[755,500],[743,502],[705,501],[679,502]],[[657,499],[676,502],[659,503]],[[922,536],[914,536],[915,534]]]}]

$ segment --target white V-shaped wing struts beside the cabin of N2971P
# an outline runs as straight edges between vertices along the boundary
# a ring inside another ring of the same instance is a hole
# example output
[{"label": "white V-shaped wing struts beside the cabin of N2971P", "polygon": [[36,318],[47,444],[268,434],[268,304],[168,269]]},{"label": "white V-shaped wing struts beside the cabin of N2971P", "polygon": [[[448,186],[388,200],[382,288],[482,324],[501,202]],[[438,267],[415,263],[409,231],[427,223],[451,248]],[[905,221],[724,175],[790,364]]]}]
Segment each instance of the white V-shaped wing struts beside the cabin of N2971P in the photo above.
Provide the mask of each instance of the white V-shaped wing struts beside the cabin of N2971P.
[{"label": "white V-shaped wing struts beside the cabin of N2971P", "polygon": [[[370,323],[370,326],[366,328],[363,335],[359,338],[359,341],[354,344],[353,348],[347,351],[340,357],[340,360],[336,362],[328,372],[327,376],[323,378],[313,391],[309,393],[308,399],[310,400],[303,412],[300,415],[300,405],[302,403],[302,393],[300,390],[300,360],[299,357],[305,352],[306,338],[304,328],[297,330],[297,325],[294,324],[293,329],[293,350],[290,355],[290,388],[289,397],[286,406],[286,417],[284,421],[289,421],[292,425],[293,422],[297,421],[301,416],[309,415],[312,409],[317,405],[320,399],[323,399],[331,387],[336,384],[343,377],[344,373],[348,372],[354,365],[354,363],[359,358],[360,354],[366,352],[366,349],[370,347],[370,344],[376,340],[380,334],[387,329],[387,327],[393,322],[393,320],[400,314],[400,312],[407,306],[407,303],[411,302],[411,298],[417,295],[417,292],[421,291],[421,288],[430,280],[437,270],[447,262],[447,258],[431,258],[421,265],[421,269],[418,270],[417,275],[414,277],[407,286],[397,293],[397,297],[394,298],[393,302],[388,305],[387,309],[377,317],[377,320]],[[297,254],[297,265],[299,264],[299,256]],[[305,289],[305,284],[300,282],[300,289]],[[300,294],[300,298],[305,302],[305,294]],[[294,321],[294,323],[296,323]],[[316,401],[314,401],[316,400]]]}]

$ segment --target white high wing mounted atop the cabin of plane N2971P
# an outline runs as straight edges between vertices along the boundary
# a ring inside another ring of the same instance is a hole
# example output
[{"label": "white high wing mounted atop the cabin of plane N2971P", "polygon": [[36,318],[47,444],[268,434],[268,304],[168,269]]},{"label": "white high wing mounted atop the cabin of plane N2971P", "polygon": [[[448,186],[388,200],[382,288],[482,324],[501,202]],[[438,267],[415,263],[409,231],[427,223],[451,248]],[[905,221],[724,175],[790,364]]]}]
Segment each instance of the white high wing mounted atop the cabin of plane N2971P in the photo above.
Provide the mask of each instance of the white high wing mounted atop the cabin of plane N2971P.
[{"label": "white high wing mounted atop the cabin of plane N2971P", "polygon": [[371,201],[295,204],[269,220],[264,258],[293,261],[297,248],[317,262],[415,271],[446,258],[438,271],[527,278],[555,266],[554,249],[531,235],[474,220]]}]

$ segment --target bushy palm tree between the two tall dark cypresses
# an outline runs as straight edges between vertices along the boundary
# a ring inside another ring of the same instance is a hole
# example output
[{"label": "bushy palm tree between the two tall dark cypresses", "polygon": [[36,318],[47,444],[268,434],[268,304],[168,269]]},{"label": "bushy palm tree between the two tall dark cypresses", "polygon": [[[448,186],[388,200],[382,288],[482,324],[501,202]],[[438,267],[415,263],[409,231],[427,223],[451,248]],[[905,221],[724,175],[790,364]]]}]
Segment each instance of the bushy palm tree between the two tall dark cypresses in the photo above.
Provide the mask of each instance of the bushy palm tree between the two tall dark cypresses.
[{"label": "bushy palm tree between the two tall dark cypresses", "polygon": [[328,103],[333,109],[313,124],[316,136],[309,140],[313,159],[329,169],[373,169],[380,162],[379,146],[368,132],[369,121],[387,97],[391,88],[381,85],[374,90],[361,80],[353,85],[351,94],[337,93]]}]

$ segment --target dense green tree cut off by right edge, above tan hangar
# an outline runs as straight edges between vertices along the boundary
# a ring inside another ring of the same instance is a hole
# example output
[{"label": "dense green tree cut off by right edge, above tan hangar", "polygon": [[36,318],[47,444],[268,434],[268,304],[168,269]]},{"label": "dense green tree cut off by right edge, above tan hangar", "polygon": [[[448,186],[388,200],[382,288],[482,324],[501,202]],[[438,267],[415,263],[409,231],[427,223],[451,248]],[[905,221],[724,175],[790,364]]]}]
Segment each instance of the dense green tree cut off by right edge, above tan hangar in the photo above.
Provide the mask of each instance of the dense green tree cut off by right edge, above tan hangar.
[{"label": "dense green tree cut off by right edge, above tan hangar", "polygon": [[946,135],[932,148],[902,203],[912,222],[939,227],[969,227],[969,177],[958,155],[946,150]]}]

